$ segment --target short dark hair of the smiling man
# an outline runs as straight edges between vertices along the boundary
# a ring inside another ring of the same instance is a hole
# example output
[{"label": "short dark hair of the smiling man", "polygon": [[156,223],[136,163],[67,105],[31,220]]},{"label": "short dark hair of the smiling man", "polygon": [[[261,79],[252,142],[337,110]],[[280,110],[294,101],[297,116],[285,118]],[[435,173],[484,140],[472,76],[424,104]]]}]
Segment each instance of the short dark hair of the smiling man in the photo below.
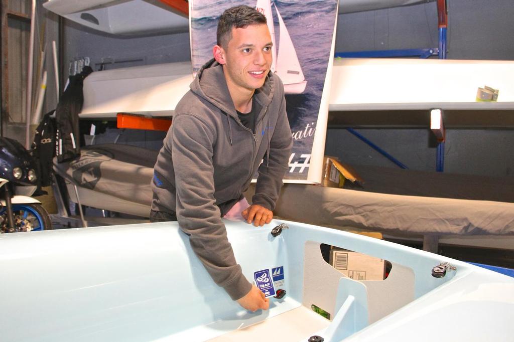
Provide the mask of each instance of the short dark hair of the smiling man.
[{"label": "short dark hair of the smiling man", "polygon": [[259,24],[266,24],[266,17],[255,8],[246,5],[230,7],[219,18],[216,44],[226,49],[232,39],[232,28]]}]

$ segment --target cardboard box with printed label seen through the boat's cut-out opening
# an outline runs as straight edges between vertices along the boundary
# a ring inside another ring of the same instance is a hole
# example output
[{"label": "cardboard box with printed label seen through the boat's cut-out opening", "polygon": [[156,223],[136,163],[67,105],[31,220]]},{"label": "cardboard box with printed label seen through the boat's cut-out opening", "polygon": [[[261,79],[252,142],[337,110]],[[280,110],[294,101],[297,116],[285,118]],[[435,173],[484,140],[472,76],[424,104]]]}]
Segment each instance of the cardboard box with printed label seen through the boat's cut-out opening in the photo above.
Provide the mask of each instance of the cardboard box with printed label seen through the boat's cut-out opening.
[{"label": "cardboard box with printed label seen through the boat's cut-out opening", "polygon": [[384,259],[334,246],[330,250],[330,264],[354,280],[383,280],[386,275]]}]

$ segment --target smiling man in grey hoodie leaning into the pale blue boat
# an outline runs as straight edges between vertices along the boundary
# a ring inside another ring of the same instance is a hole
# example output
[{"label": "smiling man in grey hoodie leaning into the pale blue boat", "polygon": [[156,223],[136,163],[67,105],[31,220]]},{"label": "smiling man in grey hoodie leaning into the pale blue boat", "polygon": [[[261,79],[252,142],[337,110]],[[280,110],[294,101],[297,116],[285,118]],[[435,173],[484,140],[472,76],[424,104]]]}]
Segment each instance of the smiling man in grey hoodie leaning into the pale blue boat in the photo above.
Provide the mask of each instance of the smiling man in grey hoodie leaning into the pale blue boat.
[{"label": "smiling man in grey hoodie leaning into the pale blue boat", "polygon": [[[266,310],[268,300],[235,260],[222,217],[239,210],[255,226],[273,218],[292,146],[284,87],[269,72],[272,43],[263,14],[229,8],[216,38],[214,59],[175,108],[154,167],[150,219],[178,220],[213,280],[243,308]],[[252,205],[242,207],[257,170]]]}]

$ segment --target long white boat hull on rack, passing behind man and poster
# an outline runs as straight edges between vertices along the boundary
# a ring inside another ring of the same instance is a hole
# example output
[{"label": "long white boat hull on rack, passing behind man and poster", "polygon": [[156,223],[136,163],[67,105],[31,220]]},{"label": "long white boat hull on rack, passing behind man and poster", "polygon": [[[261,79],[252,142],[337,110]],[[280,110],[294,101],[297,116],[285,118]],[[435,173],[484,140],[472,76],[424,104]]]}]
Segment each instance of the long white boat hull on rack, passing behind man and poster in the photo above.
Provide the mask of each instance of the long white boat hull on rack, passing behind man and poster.
[{"label": "long white boat hull on rack, passing behind man and poster", "polygon": [[[115,118],[118,112],[173,116],[193,81],[191,70],[191,62],[178,62],[93,72],[84,80],[80,117]],[[444,74],[445,82],[434,74]],[[328,109],[512,109],[513,77],[512,61],[338,58]],[[484,83],[501,89],[498,102],[476,102],[476,89]]]}]

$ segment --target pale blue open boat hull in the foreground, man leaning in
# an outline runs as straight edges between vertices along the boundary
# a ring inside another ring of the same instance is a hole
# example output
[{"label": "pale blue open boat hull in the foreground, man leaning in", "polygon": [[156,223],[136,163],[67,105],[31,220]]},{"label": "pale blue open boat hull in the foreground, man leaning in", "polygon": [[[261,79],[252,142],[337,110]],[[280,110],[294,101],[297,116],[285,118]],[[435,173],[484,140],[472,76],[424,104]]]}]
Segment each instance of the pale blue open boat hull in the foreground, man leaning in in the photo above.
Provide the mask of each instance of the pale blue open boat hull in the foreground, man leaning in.
[{"label": "pale blue open boat hull in the foreground, man leaning in", "polygon": [[[176,222],[4,234],[2,340],[504,341],[514,335],[514,278],[321,226],[225,223],[247,279],[267,271],[283,295],[269,297],[269,310],[248,312],[217,287]],[[321,244],[388,260],[389,275],[351,279],[325,261]]]}]

